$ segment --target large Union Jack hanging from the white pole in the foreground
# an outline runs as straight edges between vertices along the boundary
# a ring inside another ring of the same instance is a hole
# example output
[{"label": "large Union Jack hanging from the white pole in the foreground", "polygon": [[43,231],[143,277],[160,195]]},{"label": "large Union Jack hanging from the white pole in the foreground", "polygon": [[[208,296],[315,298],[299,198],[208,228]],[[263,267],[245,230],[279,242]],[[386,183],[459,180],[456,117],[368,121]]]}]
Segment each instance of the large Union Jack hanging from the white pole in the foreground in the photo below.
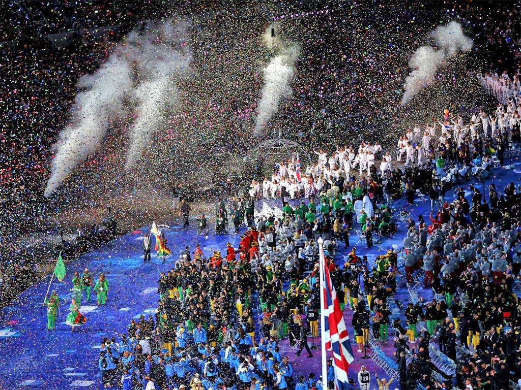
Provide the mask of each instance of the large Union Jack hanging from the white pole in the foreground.
[{"label": "large Union Jack hanging from the white pole in the foreground", "polygon": [[326,349],[333,352],[335,390],[348,390],[348,369],[353,361],[353,350],[345,328],[344,317],[334,290],[331,274],[324,258],[324,249],[320,247],[320,262],[324,262],[324,317]]}]

